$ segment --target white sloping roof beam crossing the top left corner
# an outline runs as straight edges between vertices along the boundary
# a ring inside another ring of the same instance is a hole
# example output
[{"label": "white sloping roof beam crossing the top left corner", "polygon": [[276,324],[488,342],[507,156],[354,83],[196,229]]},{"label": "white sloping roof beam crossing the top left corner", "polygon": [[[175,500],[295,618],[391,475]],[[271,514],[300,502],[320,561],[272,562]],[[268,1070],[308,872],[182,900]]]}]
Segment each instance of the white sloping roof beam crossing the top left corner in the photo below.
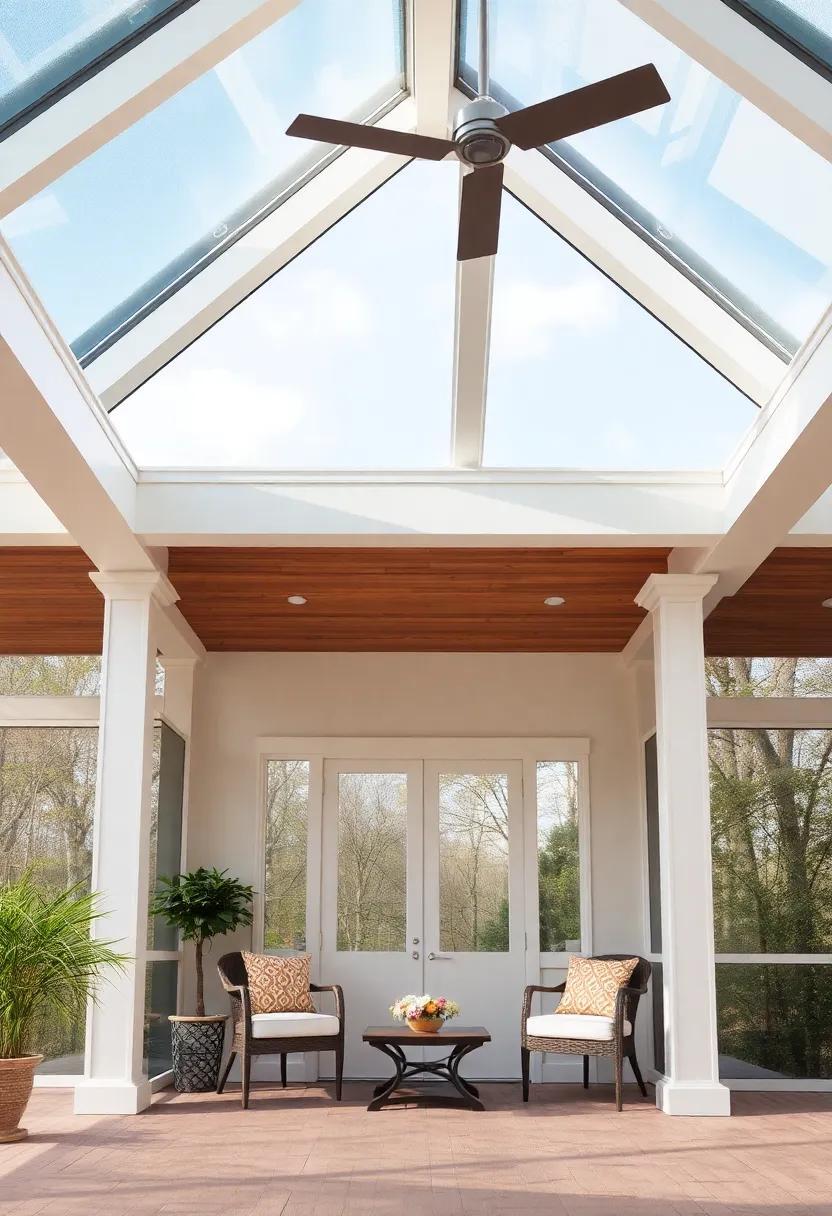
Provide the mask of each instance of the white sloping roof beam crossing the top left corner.
[{"label": "white sloping roof beam crossing the top left corner", "polygon": [[199,0],[2,145],[0,216],[251,41],[298,0]]}]

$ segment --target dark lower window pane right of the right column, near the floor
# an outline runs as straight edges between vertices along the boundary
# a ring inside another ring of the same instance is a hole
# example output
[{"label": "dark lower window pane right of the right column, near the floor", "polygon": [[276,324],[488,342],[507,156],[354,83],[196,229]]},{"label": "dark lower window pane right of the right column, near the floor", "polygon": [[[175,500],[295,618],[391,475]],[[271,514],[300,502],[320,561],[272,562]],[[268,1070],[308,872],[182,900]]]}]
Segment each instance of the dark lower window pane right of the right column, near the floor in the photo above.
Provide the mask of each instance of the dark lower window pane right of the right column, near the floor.
[{"label": "dark lower window pane right of the right column, near the floor", "polygon": [[718,963],[721,1077],[832,1077],[832,967]]}]

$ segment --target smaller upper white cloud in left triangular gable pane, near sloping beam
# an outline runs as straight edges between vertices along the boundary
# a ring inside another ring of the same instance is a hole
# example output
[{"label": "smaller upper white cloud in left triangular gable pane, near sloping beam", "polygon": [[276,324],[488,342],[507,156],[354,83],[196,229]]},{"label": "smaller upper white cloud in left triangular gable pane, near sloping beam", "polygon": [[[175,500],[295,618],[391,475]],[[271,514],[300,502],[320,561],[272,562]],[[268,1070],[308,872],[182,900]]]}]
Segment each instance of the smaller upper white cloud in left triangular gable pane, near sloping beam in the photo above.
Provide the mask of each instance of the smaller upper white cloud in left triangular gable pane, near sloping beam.
[{"label": "smaller upper white cloud in left triangular gable pane, near sloping beam", "polygon": [[367,295],[343,275],[309,270],[292,278],[291,299],[281,308],[263,308],[257,317],[264,338],[297,349],[333,339],[358,342],[373,330]]}]

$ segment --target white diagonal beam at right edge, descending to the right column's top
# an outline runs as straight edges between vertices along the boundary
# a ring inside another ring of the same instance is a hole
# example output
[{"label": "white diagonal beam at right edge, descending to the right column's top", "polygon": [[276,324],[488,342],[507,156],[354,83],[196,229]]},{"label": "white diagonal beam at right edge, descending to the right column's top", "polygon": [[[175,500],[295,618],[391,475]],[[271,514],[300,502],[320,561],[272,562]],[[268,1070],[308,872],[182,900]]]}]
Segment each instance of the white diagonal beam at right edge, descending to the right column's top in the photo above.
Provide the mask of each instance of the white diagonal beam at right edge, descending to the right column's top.
[{"label": "white diagonal beam at right edge, descending to the right column's top", "polygon": [[705,614],[740,590],[832,485],[831,451],[832,310],[726,469],[723,535],[670,554],[674,573],[719,575]]}]

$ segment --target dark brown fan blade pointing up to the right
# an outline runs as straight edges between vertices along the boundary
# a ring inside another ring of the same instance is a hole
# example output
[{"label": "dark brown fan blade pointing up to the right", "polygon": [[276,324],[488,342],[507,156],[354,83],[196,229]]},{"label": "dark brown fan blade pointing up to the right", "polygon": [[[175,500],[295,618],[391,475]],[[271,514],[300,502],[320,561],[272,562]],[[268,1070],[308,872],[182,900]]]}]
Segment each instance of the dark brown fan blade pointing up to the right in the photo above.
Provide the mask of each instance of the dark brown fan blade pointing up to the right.
[{"label": "dark brown fan blade pointing up to the right", "polygon": [[561,97],[517,109],[497,118],[496,125],[516,147],[536,148],[668,101],[670,94],[662,77],[652,63],[645,63]]}]

